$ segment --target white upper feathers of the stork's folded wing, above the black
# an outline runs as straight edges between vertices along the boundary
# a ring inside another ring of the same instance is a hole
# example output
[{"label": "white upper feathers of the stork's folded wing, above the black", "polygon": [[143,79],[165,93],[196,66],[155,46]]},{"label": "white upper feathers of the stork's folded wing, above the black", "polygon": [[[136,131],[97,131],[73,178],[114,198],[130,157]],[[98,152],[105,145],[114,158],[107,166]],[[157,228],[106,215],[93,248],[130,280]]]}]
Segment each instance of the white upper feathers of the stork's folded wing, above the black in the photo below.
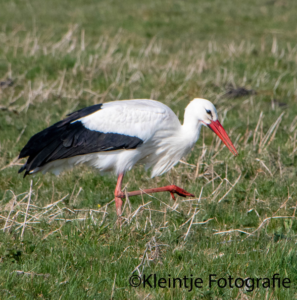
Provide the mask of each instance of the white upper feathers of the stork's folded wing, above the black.
[{"label": "white upper feathers of the stork's folded wing, above the black", "polygon": [[104,103],[99,111],[78,121],[90,130],[136,136],[144,142],[158,130],[180,125],[168,106],[148,99]]}]

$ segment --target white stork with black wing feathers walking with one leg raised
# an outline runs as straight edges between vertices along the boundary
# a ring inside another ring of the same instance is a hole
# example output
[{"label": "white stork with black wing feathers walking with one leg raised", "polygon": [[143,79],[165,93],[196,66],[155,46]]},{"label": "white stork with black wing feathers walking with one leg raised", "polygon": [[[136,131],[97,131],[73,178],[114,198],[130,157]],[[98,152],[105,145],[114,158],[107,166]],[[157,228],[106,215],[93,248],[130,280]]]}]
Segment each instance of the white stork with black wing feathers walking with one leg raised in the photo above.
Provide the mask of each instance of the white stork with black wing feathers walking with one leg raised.
[{"label": "white stork with black wing feathers walking with one leg raised", "polygon": [[193,194],[176,186],[122,192],[124,174],[136,164],[151,168],[151,178],[169,171],[188,154],[198,140],[201,125],[214,131],[229,150],[238,155],[218,120],[215,107],[205,99],[194,99],[185,110],[184,123],[165,104],[148,99],[113,101],[74,112],[33,135],[20,152],[29,156],[19,170],[25,175],[41,171],[58,175],[78,164],[93,166],[101,173],[118,176],[114,191],[116,212],[122,212],[122,198],[169,191],[186,197]]}]

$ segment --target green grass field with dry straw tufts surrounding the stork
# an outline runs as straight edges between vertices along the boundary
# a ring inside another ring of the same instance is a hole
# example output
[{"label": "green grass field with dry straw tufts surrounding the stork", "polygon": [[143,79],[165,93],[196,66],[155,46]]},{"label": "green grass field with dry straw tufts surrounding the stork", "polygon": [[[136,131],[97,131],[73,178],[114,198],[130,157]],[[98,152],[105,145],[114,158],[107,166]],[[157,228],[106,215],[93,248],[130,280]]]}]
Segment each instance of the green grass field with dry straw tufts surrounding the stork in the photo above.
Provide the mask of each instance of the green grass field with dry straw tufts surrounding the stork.
[{"label": "green grass field with dry straw tufts surrounding the stork", "polygon": [[[296,15],[293,0],[1,3],[0,299],[296,299]],[[167,174],[124,178],[195,199],[132,197],[119,229],[116,177],[17,174],[28,139],[74,110],[150,98],[182,121],[195,97],[215,104],[239,157],[204,128]],[[208,284],[276,273],[289,288]],[[149,274],[166,287],[129,284]],[[184,276],[202,287],[168,287]]]}]

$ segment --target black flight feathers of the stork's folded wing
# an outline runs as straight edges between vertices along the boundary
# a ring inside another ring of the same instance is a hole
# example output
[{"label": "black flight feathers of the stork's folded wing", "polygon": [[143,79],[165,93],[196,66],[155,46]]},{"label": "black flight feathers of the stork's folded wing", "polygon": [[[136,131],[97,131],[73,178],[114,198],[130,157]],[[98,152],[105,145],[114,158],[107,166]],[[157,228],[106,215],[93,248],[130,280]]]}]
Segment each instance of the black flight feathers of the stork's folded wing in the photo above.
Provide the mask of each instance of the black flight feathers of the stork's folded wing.
[{"label": "black flight feathers of the stork's folded wing", "polygon": [[90,130],[81,121],[76,121],[95,113],[101,106],[97,104],[69,114],[66,119],[33,135],[20,152],[19,158],[29,158],[18,173],[26,170],[25,177],[37,167],[57,159],[100,151],[135,149],[143,143],[135,136]]}]

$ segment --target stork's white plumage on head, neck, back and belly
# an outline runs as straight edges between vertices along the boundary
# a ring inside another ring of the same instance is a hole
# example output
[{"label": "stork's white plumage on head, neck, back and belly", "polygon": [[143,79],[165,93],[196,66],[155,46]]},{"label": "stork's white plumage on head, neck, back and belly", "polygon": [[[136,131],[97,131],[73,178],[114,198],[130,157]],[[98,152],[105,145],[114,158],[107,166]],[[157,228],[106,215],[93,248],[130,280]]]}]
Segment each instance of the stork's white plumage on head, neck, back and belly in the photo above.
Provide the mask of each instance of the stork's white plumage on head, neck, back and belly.
[{"label": "stork's white plumage on head, neck, back and belly", "polygon": [[[210,116],[205,111],[211,111]],[[30,171],[58,175],[74,165],[93,166],[101,173],[117,175],[137,164],[152,168],[151,178],[169,171],[188,154],[198,140],[201,125],[217,120],[216,109],[205,99],[194,99],[185,110],[181,125],[166,105],[148,99],[123,100],[104,103],[98,111],[71,123],[81,122],[89,130],[105,134],[117,133],[137,137],[143,141],[135,149],[118,149],[88,153],[51,161]]]}]

